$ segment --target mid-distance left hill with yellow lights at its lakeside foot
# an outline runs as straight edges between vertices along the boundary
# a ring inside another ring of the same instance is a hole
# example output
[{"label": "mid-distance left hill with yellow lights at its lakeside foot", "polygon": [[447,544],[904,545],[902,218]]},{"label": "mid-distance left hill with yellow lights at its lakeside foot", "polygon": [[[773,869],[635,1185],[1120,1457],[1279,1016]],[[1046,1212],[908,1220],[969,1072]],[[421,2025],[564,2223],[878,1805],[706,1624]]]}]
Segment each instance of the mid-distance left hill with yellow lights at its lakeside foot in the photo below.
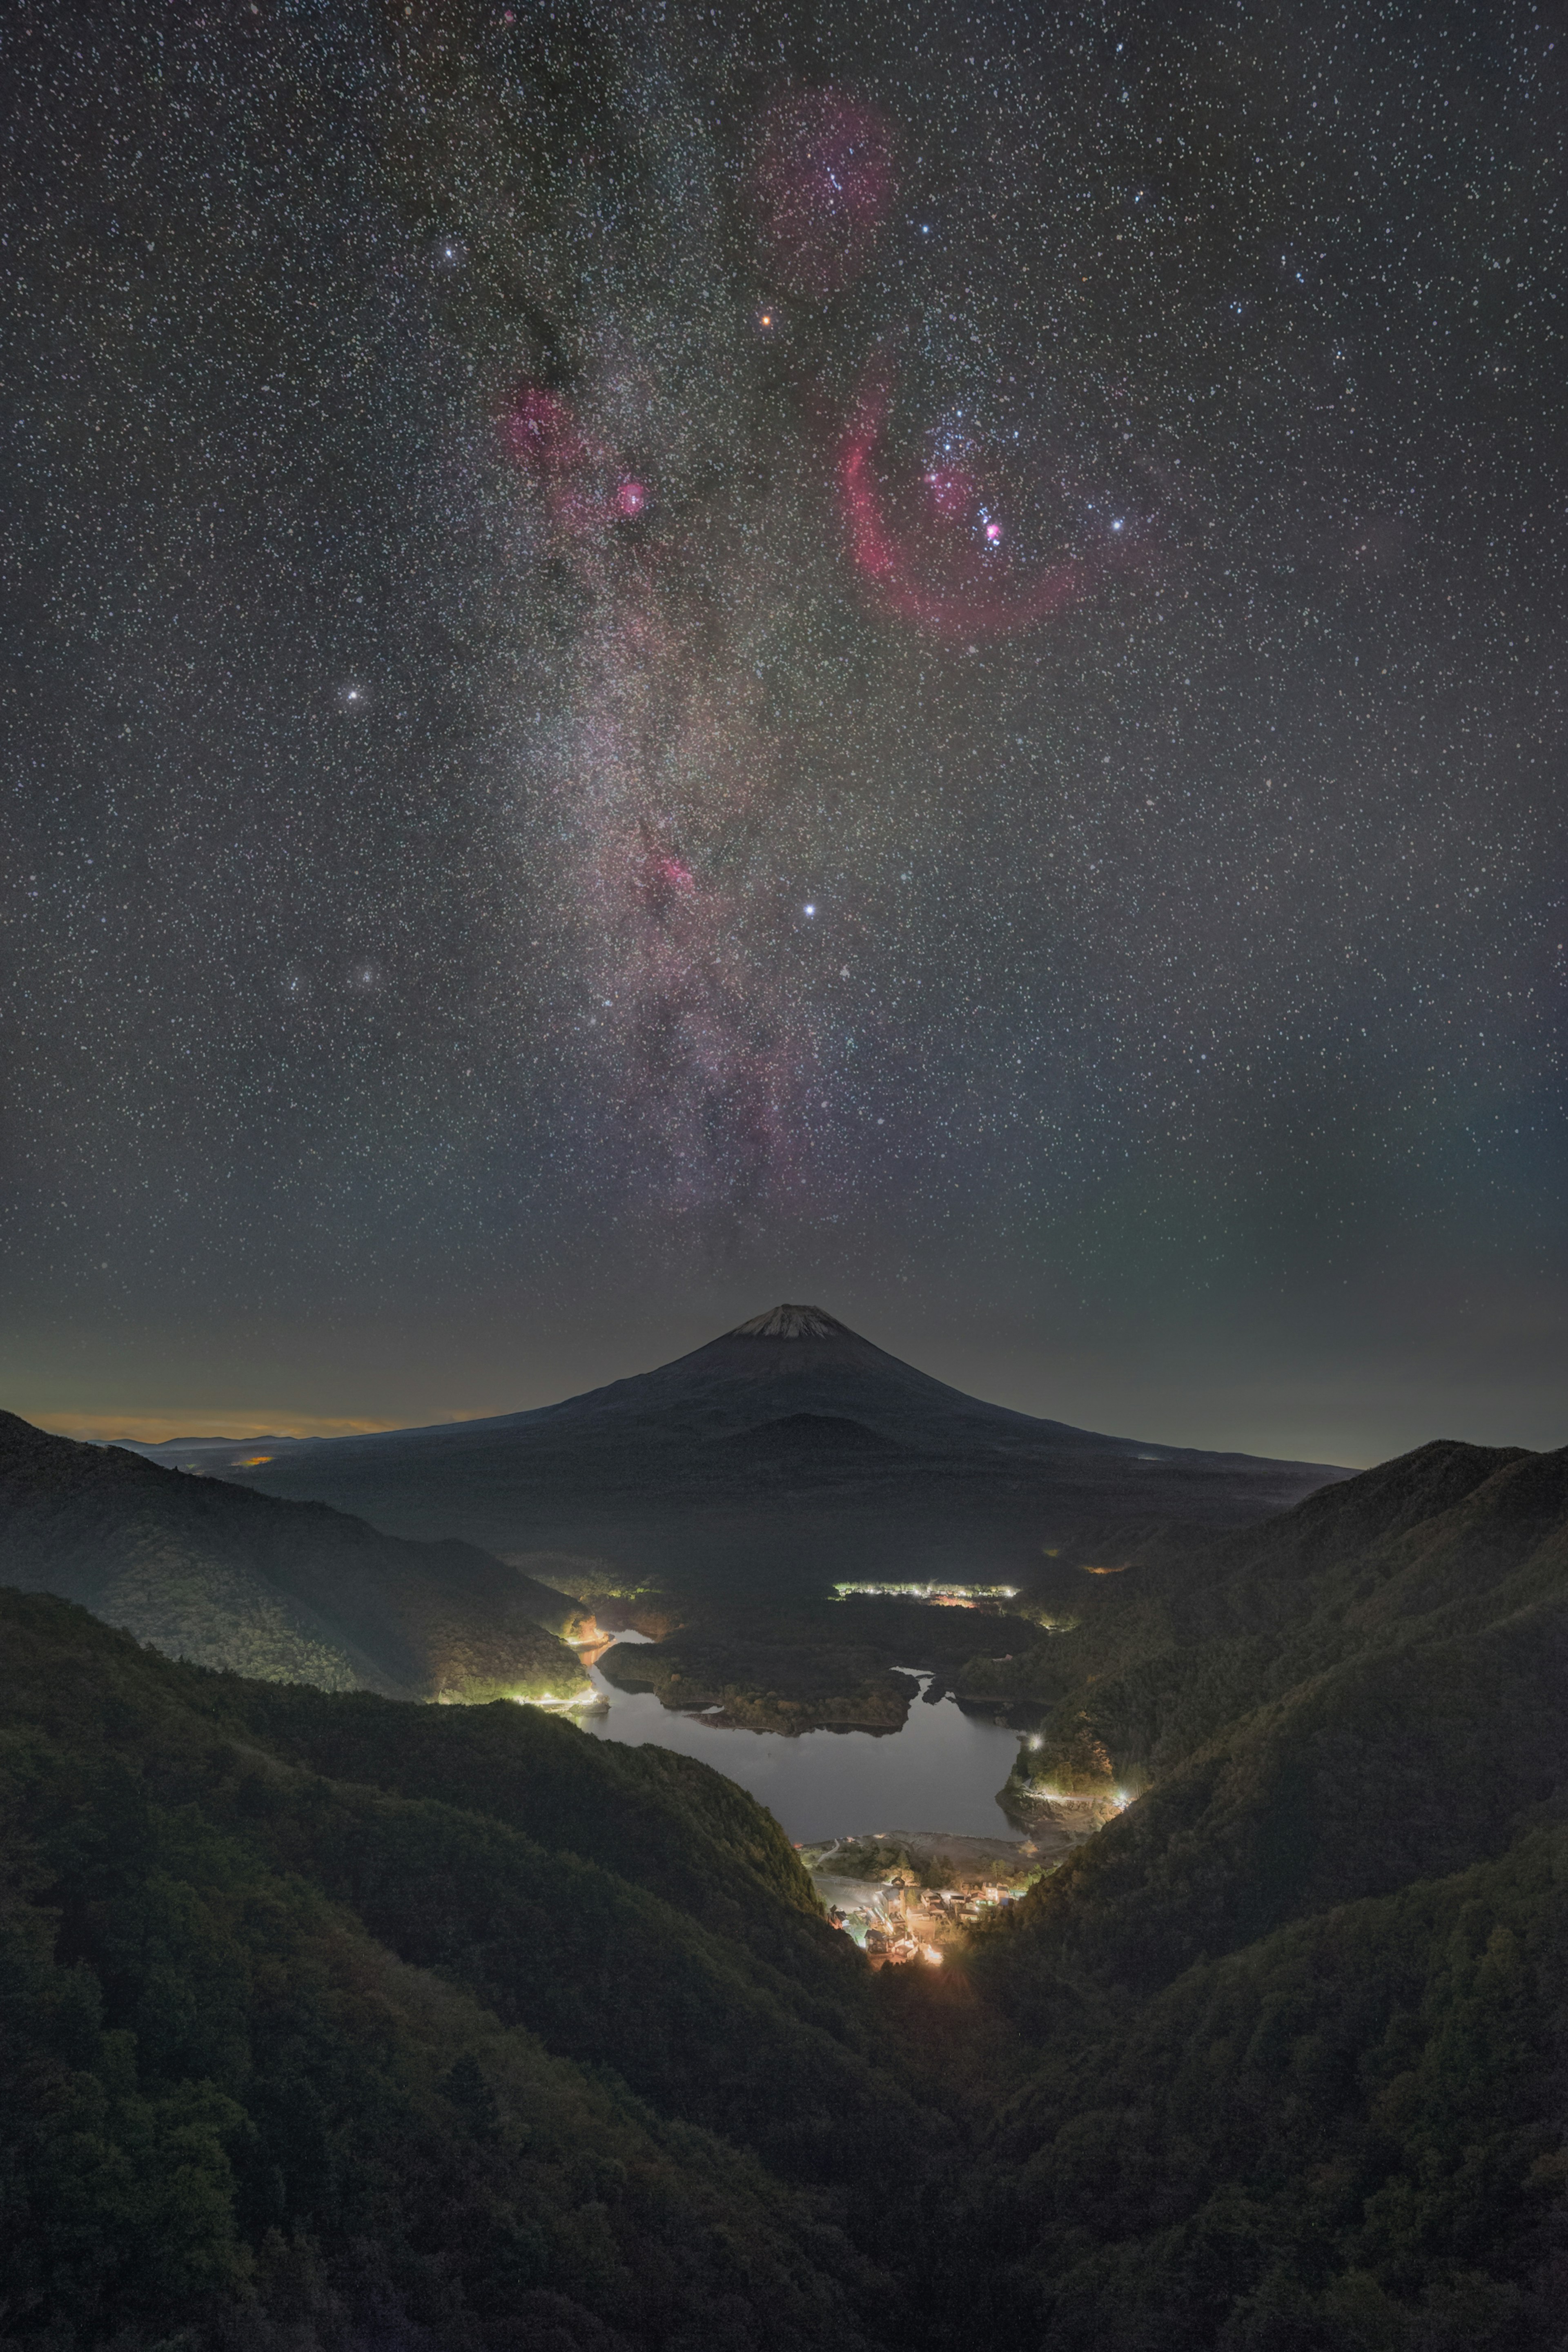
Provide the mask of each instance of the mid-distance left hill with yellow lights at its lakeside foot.
[{"label": "mid-distance left hill with yellow lights at its lakeside foot", "polygon": [[0,1414],[0,1583],[169,1656],[329,1691],[571,1698],[576,1604],[470,1543],[409,1543]]}]

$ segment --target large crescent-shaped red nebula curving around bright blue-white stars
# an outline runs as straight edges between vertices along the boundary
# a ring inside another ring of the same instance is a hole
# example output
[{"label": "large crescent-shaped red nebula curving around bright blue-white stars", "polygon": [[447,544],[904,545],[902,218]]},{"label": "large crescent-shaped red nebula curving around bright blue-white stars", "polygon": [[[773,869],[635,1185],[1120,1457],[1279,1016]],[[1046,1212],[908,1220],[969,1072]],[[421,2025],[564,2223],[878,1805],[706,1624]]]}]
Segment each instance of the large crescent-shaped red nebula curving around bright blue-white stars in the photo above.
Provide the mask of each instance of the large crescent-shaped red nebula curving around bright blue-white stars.
[{"label": "large crescent-shaped red nebula curving around bright blue-white stars", "polygon": [[929,470],[926,527],[896,527],[872,470],[889,407],[889,374],[872,369],[839,442],[849,553],[877,602],[933,637],[1001,637],[1034,628],[1084,593],[1084,567],[1070,557],[1020,572],[1001,553],[999,522],[976,529],[980,487],[964,468]]}]

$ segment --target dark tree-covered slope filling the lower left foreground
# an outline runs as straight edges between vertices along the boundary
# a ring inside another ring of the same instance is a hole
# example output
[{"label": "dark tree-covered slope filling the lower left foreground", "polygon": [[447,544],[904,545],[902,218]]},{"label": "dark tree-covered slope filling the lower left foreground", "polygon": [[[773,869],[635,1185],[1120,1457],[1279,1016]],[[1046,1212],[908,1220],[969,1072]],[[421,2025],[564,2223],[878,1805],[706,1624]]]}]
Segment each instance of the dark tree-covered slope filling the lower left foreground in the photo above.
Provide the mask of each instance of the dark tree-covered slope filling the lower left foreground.
[{"label": "dark tree-covered slope filling the lower left foreground", "polygon": [[[884,2340],[844,2225],[893,2225],[933,2126],[750,1799],[522,1708],[176,1665],[45,1597],[0,1630],[9,2345]],[[317,1769],[334,1712],[364,1778]],[[489,1809],[425,1792],[489,1773]],[[703,1865],[729,1917],[682,1905]]]}]

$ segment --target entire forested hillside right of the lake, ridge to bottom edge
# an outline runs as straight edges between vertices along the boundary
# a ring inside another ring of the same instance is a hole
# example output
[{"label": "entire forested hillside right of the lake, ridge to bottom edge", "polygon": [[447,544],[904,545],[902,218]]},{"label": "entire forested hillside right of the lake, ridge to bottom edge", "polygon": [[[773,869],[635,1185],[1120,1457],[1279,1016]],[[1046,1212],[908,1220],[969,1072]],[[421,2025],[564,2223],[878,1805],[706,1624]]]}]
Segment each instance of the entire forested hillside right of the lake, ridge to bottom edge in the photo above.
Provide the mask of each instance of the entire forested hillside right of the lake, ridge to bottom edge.
[{"label": "entire forested hillside right of the lake, ridge to bottom edge", "polygon": [[1030,1757],[1147,1795],[978,1962],[1039,2053],[969,2201],[1011,2324],[1568,2343],[1568,1451],[1150,1552]]}]

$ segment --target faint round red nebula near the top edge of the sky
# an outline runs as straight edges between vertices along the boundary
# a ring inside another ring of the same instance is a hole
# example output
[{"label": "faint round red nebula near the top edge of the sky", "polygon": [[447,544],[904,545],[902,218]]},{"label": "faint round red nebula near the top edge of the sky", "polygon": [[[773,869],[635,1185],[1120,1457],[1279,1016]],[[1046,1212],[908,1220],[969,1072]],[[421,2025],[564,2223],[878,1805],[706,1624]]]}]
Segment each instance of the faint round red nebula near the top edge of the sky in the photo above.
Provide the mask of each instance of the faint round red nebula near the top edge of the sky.
[{"label": "faint round red nebula near the top edge of the sky", "polygon": [[811,301],[837,294],[865,266],[893,191],[879,115],[837,89],[780,99],[752,179],[766,275]]}]

